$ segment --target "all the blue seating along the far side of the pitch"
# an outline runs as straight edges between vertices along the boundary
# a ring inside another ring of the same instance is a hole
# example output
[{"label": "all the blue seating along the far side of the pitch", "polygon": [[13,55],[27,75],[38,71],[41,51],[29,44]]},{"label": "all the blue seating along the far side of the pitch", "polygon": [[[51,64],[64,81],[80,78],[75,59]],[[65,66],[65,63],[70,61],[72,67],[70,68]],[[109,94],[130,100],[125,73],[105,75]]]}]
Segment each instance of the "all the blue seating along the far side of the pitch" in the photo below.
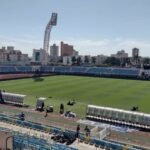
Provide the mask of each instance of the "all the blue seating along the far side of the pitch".
[{"label": "all the blue seating along the far side of the pitch", "polygon": [[[32,66],[1,66],[0,73],[31,73],[36,69]],[[64,67],[64,66],[42,66],[38,68],[42,73],[62,74],[87,74],[87,75],[114,75],[138,77],[140,69],[112,68],[112,67]]]}]

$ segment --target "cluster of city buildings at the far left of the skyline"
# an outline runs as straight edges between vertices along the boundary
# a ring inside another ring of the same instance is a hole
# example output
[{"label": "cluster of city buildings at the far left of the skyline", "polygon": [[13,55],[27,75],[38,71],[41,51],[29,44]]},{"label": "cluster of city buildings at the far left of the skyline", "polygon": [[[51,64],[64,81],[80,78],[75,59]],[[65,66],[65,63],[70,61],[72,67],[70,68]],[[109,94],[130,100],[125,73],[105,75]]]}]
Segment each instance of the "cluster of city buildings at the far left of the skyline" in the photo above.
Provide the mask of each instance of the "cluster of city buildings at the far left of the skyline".
[{"label": "cluster of city buildings at the far left of the skyline", "polygon": [[15,50],[13,46],[2,47],[0,49],[0,64],[4,65],[27,65],[30,64],[28,54],[23,54],[20,50]]}]

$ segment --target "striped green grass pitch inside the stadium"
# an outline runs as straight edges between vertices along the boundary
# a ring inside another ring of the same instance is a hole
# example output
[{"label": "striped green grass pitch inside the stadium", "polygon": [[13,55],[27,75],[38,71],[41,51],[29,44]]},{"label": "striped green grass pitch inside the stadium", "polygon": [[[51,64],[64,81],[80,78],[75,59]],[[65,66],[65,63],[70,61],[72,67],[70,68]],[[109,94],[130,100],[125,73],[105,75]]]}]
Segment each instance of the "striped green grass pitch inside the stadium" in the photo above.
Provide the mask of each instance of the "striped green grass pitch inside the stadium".
[{"label": "striped green grass pitch inside the stadium", "polygon": [[[60,103],[65,110],[72,110],[80,117],[85,116],[88,104],[131,109],[150,113],[150,82],[122,79],[106,79],[79,76],[50,76],[43,81],[21,79],[1,81],[0,89],[27,95],[25,103],[35,106],[36,96],[47,97],[46,103],[59,111]],[[52,97],[52,98],[48,98]],[[68,100],[77,104],[67,106]]]}]

